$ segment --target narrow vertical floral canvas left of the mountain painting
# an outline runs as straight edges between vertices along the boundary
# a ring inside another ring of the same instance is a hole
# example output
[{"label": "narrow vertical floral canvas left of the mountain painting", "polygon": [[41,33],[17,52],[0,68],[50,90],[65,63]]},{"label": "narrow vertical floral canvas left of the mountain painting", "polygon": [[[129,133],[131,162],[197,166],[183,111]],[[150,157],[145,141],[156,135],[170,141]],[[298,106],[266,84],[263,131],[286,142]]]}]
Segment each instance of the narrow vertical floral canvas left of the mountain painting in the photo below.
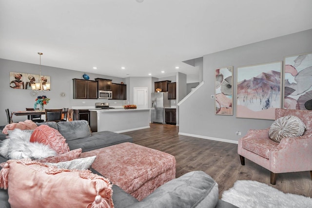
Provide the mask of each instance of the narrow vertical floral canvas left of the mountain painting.
[{"label": "narrow vertical floral canvas left of the mountain painting", "polygon": [[233,115],[233,66],[215,69],[215,114]]}]

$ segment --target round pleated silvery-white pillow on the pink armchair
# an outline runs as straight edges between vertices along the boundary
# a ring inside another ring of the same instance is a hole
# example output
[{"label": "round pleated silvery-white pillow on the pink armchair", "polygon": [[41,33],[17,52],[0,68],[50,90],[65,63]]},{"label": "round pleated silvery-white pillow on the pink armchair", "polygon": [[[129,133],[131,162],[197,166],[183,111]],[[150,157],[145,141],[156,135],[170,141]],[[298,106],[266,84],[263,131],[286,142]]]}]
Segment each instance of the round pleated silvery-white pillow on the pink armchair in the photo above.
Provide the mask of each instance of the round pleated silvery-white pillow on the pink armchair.
[{"label": "round pleated silvery-white pillow on the pink armchair", "polygon": [[305,130],[306,126],[300,118],[287,115],[273,122],[269,130],[269,136],[273,141],[279,143],[285,137],[301,136]]}]

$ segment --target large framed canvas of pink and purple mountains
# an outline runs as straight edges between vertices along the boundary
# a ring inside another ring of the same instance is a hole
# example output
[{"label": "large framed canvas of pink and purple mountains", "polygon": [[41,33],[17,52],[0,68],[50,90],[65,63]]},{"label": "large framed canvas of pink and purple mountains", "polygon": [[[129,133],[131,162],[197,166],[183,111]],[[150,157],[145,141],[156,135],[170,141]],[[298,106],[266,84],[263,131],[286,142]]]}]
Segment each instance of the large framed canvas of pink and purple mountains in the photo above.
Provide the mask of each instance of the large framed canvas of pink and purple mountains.
[{"label": "large framed canvas of pink and purple mountains", "polygon": [[236,117],[274,120],[281,75],[281,61],[237,68]]}]

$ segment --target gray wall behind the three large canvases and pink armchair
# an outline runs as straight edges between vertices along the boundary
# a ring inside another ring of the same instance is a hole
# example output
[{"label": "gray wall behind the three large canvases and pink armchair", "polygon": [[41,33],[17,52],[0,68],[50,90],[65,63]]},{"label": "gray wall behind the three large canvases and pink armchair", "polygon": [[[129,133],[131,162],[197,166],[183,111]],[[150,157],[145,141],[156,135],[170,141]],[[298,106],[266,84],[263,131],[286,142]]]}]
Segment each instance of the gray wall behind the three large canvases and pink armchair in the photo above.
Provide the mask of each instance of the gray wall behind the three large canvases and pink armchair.
[{"label": "gray wall behind the three large canvases and pink armchair", "polygon": [[[233,116],[215,115],[215,69],[234,67],[234,98],[236,95],[236,68],[240,66],[283,61],[284,57],[312,52],[312,30],[273,38],[204,56],[204,85],[179,106],[179,133],[202,138],[232,140],[234,143],[249,129],[264,129],[272,120],[236,118],[236,101]],[[241,136],[235,135],[236,131]]]}]

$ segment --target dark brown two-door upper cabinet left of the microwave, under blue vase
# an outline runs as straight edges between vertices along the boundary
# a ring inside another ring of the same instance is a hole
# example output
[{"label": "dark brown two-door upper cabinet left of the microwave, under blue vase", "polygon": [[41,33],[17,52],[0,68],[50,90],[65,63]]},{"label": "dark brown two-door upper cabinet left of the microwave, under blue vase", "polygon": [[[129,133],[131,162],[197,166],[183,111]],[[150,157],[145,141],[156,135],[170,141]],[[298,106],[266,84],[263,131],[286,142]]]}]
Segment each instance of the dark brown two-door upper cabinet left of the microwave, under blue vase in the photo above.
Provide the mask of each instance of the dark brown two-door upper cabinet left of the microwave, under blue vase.
[{"label": "dark brown two-door upper cabinet left of the microwave, under blue vase", "polygon": [[74,99],[98,99],[98,82],[84,79],[73,79]]}]

